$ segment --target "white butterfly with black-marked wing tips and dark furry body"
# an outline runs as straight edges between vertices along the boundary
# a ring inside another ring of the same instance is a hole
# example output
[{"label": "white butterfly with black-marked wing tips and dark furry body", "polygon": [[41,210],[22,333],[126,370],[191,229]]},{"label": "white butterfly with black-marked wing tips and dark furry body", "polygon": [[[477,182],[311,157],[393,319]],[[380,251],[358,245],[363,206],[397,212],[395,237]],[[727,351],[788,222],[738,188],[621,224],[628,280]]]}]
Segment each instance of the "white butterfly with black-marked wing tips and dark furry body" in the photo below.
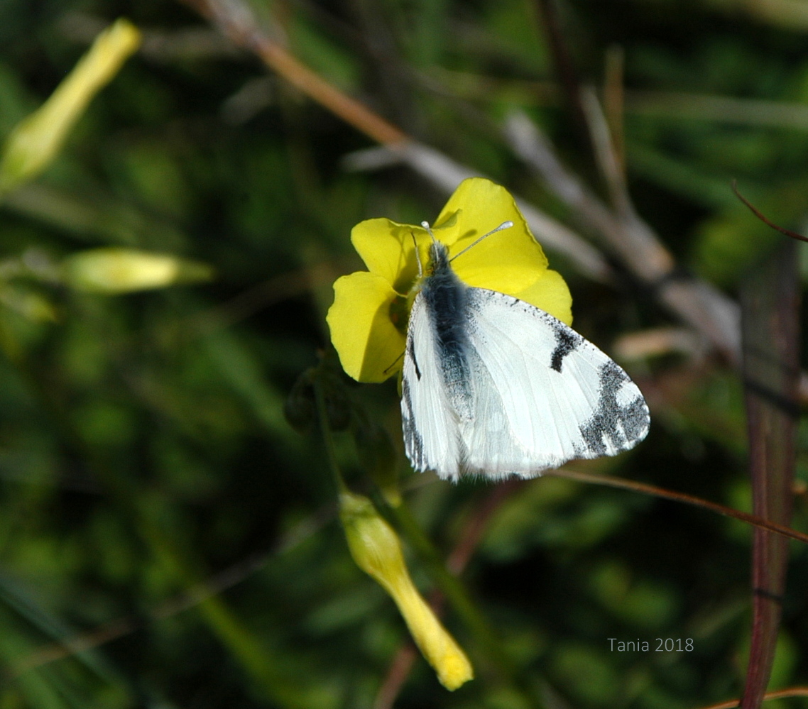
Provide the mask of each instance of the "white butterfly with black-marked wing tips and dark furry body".
[{"label": "white butterfly with black-marked wing tips and dark furry body", "polygon": [[646,437],[646,401],[606,354],[524,300],[465,285],[434,236],[429,258],[402,376],[413,468],[448,480],[529,478],[573,458],[616,455]]}]

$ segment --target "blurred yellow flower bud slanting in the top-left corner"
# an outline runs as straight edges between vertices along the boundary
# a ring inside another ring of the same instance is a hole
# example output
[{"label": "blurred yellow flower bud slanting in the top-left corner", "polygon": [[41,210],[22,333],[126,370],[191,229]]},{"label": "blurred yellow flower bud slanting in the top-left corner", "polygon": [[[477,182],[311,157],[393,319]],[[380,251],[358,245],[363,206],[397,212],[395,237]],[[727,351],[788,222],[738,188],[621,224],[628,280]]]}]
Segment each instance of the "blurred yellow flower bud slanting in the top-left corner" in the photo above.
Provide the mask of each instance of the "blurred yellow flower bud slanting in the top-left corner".
[{"label": "blurred yellow flower bud slanting in the top-left corner", "polygon": [[112,80],[140,41],[137,27],[125,19],[96,37],[50,98],[8,136],[0,162],[0,192],[35,178],[48,166],[87,103]]}]

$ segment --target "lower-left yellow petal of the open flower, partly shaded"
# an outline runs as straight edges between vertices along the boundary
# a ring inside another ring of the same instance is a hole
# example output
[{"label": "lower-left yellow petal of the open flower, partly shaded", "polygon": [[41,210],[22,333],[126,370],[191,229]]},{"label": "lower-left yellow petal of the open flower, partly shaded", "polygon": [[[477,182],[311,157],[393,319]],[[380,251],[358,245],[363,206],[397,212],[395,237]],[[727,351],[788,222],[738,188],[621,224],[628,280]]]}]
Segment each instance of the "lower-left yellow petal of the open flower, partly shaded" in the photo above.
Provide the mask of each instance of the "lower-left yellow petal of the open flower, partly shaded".
[{"label": "lower-left yellow petal of the open flower, partly shaded", "polygon": [[348,375],[360,382],[383,382],[404,351],[404,335],[390,317],[398,298],[381,275],[357,271],[334,283],[334,304],[326,321],[331,342]]}]

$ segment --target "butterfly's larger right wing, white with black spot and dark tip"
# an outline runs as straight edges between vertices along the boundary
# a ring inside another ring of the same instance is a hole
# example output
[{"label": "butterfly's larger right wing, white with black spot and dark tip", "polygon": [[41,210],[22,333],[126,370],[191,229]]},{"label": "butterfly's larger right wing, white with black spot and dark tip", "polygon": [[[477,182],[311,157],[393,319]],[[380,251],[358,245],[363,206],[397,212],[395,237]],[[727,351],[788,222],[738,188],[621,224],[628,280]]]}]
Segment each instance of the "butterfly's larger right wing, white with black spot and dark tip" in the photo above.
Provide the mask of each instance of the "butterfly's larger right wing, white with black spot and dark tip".
[{"label": "butterfly's larger right wing, white with black spot and dark tip", "polygon": [[466,313],[475,414],[459,426],[465,472],[532,477],[646,437],[637,385],[562,321],[484,288],[469,288]]}]

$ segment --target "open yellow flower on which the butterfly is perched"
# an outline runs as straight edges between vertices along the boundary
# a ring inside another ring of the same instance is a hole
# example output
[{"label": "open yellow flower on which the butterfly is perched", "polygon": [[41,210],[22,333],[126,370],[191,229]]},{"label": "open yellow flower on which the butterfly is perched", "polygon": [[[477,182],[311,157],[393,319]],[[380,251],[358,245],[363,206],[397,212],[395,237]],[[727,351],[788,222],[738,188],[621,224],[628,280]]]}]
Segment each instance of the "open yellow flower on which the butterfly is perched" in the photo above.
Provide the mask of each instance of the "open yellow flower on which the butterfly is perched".
[{"label": "open yellow flower on which the butterfly is perched", "polygon": [[[515,296],[570,325],[570,290],[547,267],[541,246],[504,187],[483,178],[464,180],[432,232],[452,258],[505,221],[514,225],[475,245],[452,262],[452,269],[469,286]],[[419,287],[413,237],[426,269],[431,238],[423,227],[370,219],[351,231],[368,271],[337,279],[326,320],[343,369],[357,381],[381,382],[401,369],[407,318]]]}]

